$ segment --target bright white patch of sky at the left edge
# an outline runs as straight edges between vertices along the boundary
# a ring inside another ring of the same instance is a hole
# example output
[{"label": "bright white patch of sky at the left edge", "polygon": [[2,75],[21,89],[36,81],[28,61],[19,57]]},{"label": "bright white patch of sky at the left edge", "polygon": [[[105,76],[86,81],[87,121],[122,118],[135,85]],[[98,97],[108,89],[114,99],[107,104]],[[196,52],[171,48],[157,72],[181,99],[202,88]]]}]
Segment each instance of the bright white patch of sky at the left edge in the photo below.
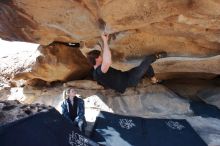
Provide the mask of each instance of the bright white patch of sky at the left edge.
[{"label": "bright white patch of sky at the left edge", "polygon": [[25,43],[25,42],[9,42],[0,38],[0,57],[19,50],[37,49],[39,44]]}]

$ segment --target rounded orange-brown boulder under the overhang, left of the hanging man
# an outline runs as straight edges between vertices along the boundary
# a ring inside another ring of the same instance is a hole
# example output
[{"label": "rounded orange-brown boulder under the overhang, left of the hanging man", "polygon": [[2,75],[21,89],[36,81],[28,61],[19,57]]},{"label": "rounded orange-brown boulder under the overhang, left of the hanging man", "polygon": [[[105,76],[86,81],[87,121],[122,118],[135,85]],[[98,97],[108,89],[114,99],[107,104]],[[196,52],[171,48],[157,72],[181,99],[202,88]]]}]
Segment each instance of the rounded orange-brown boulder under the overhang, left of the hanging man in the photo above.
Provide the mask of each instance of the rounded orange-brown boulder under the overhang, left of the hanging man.
[{"label": "rounded orange-brown boulder under the overhang, left of the hanging man", "polygon": [[41,55],[37,57],[31,70],[16,74],[15,80],[25,79],[29,84],[35,84],[39,80],[67,81],[87,76],[90,66],[78,48],[53,43],[38,49]]}]

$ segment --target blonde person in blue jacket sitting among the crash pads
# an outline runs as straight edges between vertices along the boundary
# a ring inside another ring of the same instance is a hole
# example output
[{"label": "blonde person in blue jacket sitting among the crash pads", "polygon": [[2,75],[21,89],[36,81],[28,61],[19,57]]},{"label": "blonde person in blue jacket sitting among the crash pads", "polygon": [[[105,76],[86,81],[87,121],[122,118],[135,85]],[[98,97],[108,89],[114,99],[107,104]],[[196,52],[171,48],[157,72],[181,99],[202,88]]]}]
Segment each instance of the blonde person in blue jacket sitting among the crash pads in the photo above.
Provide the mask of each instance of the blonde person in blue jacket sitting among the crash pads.
[{"label": "blonde person in blue jacket sitting among the crash pads", "polygon": [[84,133],[87,123],[84,116],[83,99],[76,96],[76,91],[73,88],[67,88],[63,91],[63,100],[61,104],[62,115]]}]

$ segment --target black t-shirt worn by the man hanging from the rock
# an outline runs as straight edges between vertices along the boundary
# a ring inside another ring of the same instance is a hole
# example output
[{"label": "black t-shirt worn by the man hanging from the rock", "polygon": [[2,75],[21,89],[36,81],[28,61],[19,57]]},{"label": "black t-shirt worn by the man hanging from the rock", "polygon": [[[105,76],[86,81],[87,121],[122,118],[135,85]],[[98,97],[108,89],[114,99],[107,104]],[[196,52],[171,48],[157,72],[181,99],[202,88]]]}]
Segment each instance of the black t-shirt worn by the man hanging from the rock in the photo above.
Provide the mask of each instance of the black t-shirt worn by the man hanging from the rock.
[{"label": "black t-shirt worn by the man hanging from the rock", "polygon": [[101,70],[101,65],[93,71],[94,79],[104,87],[109,87],[123,93],[127,87],[128,73],[109,67],[106,73]]}]

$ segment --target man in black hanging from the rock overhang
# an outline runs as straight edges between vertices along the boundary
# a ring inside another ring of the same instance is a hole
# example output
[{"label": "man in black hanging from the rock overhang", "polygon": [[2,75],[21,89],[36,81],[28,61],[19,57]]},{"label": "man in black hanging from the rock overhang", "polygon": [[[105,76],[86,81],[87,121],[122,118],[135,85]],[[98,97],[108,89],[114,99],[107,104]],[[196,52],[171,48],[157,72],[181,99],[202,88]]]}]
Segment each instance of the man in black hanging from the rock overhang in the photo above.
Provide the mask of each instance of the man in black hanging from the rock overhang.
[{"label": "man in black hanging from the rock overhang", "polygon": [[137,86],[138,82],[145,74],[151,79],[153,84],[159,82],[159,80],[155,77],[151,63],[157,59],[166,57],[166,52],[159,52],[153,55],[145,56],[139,66],[123,72],[111,67],[111,51],[108,46],[109,35],[107,33],[103,33],[101,38],[104,43],[102,56],[101,51],[99,50],[92,50],[87,53],[87,59],[94,67],[93,78],[99,84],[123,93],[127,87]]}]

